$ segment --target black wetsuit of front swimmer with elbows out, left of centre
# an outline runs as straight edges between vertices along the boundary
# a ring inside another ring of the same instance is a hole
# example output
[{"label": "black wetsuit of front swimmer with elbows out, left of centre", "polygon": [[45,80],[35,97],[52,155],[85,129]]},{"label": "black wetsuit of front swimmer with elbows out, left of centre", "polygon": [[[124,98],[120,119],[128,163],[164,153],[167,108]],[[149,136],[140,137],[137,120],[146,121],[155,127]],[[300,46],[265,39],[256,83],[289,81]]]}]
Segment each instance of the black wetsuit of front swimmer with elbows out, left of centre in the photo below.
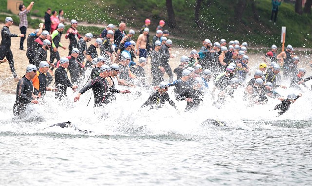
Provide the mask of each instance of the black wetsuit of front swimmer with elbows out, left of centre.
[{"label": "black wetsuit of front swimmer with elbows out, left of centre", "polygon": [[94,95],[94,106],[102,106],[103,104],[108,104],[110,102],[110,91],[116,91],[116,93],[119,93],[119,90],[116,89],[110,89],[108,82],[105,78],[102,78],[101,76],[98,76],[91,80],[91,82],[84,86],[79,93],[83,94],[89,89],[93,90]]}]

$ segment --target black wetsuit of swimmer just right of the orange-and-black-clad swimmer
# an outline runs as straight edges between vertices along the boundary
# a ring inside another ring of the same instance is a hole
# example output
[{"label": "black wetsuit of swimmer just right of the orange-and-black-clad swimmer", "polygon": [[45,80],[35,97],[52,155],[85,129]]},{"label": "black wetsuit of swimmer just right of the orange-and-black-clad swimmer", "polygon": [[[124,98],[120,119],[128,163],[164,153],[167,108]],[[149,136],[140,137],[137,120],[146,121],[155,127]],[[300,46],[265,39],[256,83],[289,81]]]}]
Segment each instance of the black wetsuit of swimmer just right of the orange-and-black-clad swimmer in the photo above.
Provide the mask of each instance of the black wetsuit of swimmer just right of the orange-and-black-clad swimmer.
[{"label": "black wetsuit of swimmer just right of the orange-and-black-clad swimmer", "polygon": [[73,84],[69,81],[67,72],[65,68],[59,66],[54,72],[55,77],[55,87],[58,91],[55,92],[55,99],[62,100],[63,97],[66,97],[67,87],[73,87]]}]

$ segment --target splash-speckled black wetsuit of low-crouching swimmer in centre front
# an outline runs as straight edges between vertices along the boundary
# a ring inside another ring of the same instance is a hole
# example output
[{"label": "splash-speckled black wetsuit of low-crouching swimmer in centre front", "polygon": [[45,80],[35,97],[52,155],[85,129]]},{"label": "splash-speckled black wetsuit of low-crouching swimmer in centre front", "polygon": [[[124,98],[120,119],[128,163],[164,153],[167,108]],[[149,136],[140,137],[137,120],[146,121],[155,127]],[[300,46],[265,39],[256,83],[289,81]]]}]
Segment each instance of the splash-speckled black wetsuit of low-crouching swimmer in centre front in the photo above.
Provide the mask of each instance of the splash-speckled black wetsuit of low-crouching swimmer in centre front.
[{"label": "splash-speckled black wetsuit of low-crouching swimmer in centre front", "polygon": [[160,94],[158,91],[155,91],[150,95],[150,97],[145,101],[145,103],[141,107],[158,109],[162,105],[164,105],[166,101],[169,101],[169,104],[174,108],[176,108],[176,104],[169,98],[169,94],[167,92],[165,92],[164,94]]}]

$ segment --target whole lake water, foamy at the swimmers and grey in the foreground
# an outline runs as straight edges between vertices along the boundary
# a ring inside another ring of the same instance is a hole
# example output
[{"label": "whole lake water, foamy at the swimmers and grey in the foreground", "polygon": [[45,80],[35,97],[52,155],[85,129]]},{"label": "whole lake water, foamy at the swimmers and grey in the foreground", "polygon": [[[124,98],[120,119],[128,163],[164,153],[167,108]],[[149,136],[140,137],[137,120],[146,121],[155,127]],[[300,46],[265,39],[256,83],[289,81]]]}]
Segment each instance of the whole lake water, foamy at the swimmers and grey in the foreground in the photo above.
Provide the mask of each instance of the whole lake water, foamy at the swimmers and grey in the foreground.
[{"label": "whole lake water, foamy at the swimmers and grey in the foreground", "polygon": [[[77,103],[71,91],[64,101],[48,92],[21,117],[13,117],[15,95],[0,93],[1,185],[312,185],[309,91],[280,117],[272,111],[278,100],[246,107],[243,88],[222,109],[207,96],[196,112],[184,113],[184,101],[179,113],[170,105],[139,110],[151,91],[117,95],[102,108],[93,98],[86,107],[91,91]],[[92,132],[47,128],[65,121]]]}]

